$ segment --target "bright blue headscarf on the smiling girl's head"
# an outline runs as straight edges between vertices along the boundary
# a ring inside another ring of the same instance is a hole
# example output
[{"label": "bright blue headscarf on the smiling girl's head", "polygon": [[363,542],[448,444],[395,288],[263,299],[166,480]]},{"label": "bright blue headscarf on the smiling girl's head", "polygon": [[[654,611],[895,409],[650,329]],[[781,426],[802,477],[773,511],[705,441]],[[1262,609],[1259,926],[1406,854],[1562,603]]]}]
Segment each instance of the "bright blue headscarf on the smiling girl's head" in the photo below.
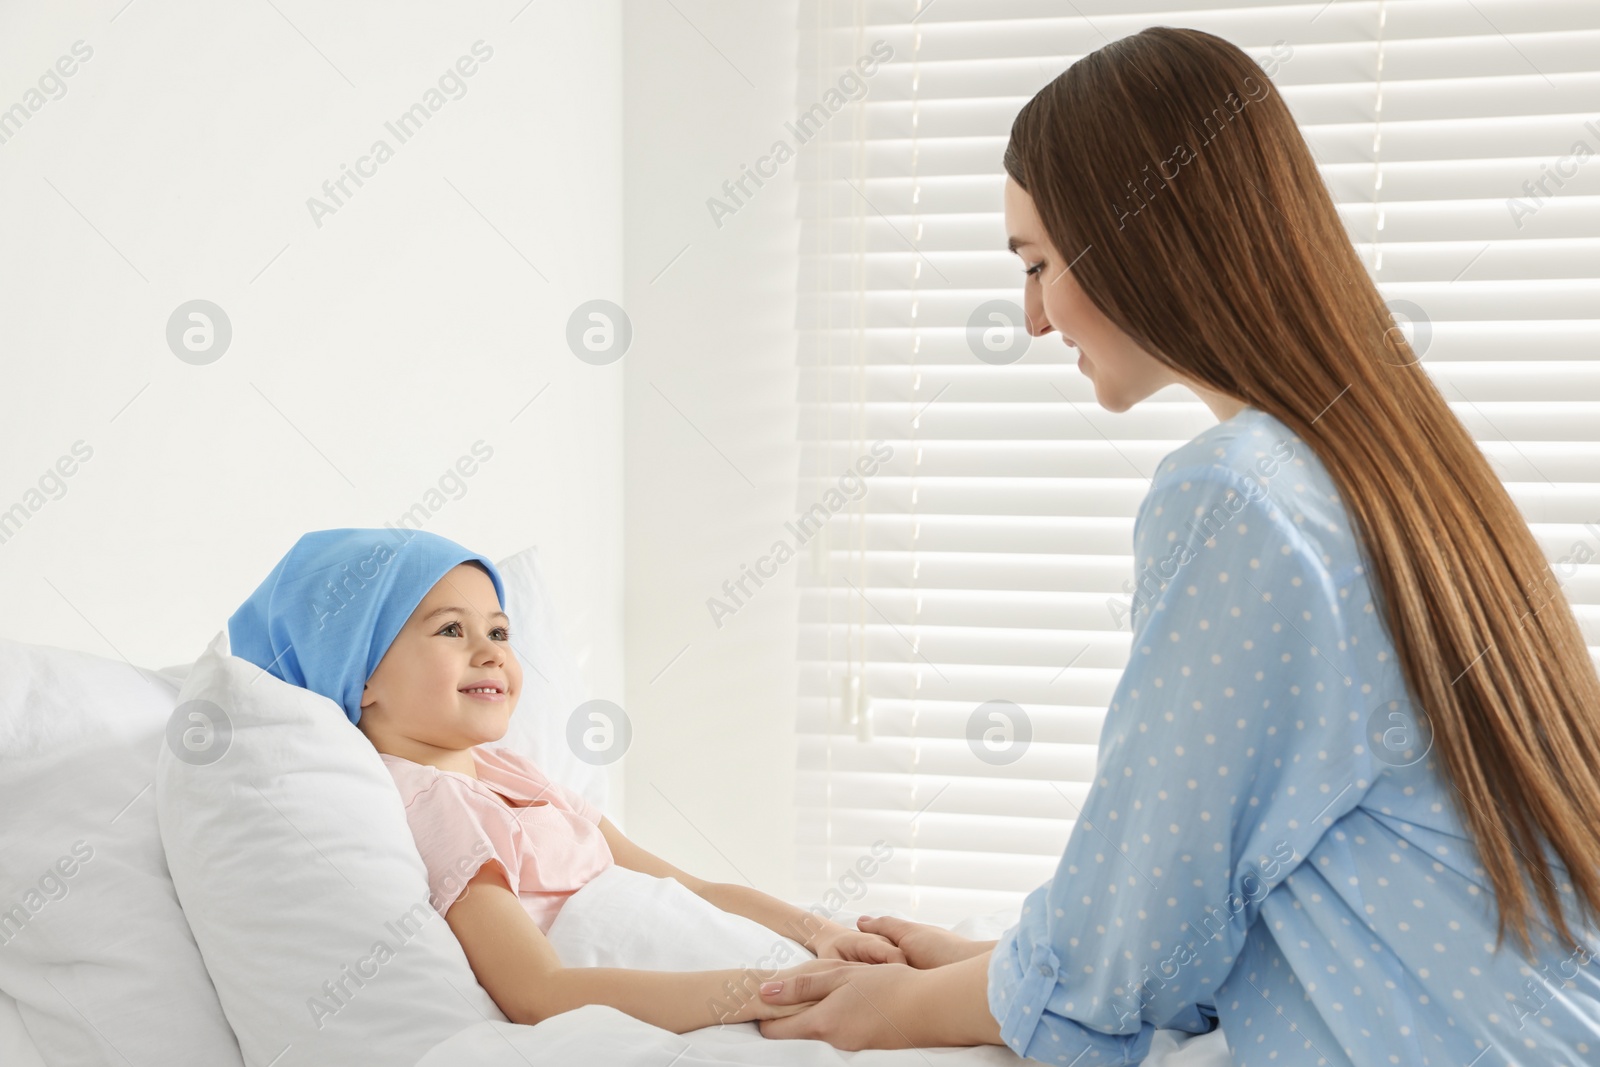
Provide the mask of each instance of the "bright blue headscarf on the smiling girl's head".
[{"label": "bright blue headscarf on the smiling girl's head", "polygon": [[234,656],[322,693],[362,720],[362,688],[427,592],[478,561],[506,609],[499,571],[482,555],[421,530],[317,530],[278,560],[227,621]]}]

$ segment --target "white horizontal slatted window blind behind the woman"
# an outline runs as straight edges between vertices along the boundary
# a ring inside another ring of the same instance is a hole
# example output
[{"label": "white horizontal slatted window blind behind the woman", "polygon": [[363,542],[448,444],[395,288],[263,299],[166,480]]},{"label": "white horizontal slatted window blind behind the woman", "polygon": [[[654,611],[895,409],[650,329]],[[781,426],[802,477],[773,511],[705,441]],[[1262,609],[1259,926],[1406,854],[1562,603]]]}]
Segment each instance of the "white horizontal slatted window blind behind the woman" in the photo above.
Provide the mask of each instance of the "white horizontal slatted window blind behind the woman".
[{"label": "white horizontal slatted window blind behind the woman", "polygon": [[[1003,320],[971,320],[1021,301],[1000,210],[1018,109],[1155,24],[1272,74],[1600,653],[1600,5],[810,0],[797,857],[819,902],[1014,907],[1088,790],[1130,653],[1133,517],[1214,418],[1179,387],[1110,414],[1058,338],[990,362]],[[893,58],[856,93],[842,75],[875,43]]]}]

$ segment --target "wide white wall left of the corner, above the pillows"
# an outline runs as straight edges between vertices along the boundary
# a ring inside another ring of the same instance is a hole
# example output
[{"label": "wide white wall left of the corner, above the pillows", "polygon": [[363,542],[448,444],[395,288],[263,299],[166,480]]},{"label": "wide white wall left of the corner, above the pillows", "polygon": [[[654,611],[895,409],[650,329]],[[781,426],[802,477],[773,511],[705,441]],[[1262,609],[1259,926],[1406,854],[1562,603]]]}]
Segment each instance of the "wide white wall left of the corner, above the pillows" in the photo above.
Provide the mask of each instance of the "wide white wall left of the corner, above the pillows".
[{"label": "wide white wall left of the corner, above the pillows", "polygon": [[[538,544],[621,699],[624,370],[565,342],[624,298],[621,5],[275,2],[0,8],[0,109],[38,104],[0,144],[0,635],[194,659],[301,533],[397,520],[482,440],[426,528]],[[384,123],[478,40],[402,144]],[[165,336],[195,298],[234,333],[205,366]]]}]

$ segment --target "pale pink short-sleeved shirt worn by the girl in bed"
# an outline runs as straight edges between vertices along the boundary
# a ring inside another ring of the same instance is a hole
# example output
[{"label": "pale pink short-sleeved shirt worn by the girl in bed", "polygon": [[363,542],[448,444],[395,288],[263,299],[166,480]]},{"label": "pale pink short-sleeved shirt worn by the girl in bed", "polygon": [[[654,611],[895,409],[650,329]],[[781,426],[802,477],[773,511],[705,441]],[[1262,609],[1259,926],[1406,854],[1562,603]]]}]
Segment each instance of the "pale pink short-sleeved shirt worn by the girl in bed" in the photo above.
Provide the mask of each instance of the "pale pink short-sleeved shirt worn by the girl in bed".
[{"label": "pale pink short-sleeved shirt worn by the girl in bed", "polygon": [[477,779],[379,753],[405,801],[434,910],[448,912],[478,867],[498,862],[506,885],[549,933],[566,897],[613,862],[600,809],[512,749],[470,752]]}]

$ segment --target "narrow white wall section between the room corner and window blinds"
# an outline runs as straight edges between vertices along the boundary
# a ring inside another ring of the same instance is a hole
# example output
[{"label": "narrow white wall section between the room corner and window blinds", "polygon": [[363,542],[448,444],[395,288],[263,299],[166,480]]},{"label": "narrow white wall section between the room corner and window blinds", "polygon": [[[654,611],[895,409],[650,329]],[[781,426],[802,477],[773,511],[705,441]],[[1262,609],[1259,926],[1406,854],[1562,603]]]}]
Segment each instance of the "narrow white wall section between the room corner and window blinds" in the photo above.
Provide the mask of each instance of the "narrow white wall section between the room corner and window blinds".
[{"label": "narrow white wall section between the room corner and window blinds", "polygon": [[720,229],[706,200],[786,136],[795,24],[792,2],[629,3],[622,106],[629,833],[787,897],[798,563],[722,629],[706,600],[795,514],[794,163]]}]

